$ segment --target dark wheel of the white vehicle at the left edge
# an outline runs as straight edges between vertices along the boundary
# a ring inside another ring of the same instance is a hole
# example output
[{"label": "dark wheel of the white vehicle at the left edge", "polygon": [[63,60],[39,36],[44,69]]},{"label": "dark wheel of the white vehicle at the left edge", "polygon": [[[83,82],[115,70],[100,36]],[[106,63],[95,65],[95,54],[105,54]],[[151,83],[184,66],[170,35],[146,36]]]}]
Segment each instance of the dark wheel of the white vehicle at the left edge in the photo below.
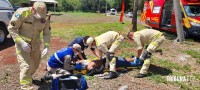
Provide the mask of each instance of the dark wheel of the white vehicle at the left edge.
[{"label": "dark wheel of the white vehicle at the left edge", "polygon": [[7,39],[6,28],[0,26],[0,44],[5,43]]}]

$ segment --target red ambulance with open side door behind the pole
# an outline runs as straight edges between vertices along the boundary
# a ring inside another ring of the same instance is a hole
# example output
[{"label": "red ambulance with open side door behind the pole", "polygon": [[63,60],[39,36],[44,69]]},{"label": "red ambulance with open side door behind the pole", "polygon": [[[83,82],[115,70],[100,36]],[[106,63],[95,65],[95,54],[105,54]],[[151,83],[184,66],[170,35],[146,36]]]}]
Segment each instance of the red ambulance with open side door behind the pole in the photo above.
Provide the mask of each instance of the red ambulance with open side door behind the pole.
[{"label": "red ambulance with open side door behind the pole", "polygon": [[[180,0],[185,38],[200,38],[200,0]],[[144,3],[141,21],[155,29],[176,33],[173,0],[147,0]]]}]

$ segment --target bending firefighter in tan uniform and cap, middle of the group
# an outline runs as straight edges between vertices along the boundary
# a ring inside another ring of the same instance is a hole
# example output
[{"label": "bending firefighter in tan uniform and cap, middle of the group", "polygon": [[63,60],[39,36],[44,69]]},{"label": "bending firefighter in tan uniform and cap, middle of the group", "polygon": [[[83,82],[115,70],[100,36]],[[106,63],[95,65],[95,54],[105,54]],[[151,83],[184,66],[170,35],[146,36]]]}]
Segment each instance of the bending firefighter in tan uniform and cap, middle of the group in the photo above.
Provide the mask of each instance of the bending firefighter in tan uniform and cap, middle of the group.
[{"label": "bending firefighter in tan uniform and cap, middle of the group", "polygon": [[116,66],[116,58],[114,54],[118,49],[120,43],[124,40],[124,37],[115,31],[108,31],[105,32],[97,37],[94,40],[91,40],[89,43],[91,47],[97,48],[97,54],[100,59],[102,59],[103,54],[106,55],[106,65],[105,67],[108,68],[109,62],[109,70],[110,74],[105,79],[111,79],[116,76],[115,66]]}]

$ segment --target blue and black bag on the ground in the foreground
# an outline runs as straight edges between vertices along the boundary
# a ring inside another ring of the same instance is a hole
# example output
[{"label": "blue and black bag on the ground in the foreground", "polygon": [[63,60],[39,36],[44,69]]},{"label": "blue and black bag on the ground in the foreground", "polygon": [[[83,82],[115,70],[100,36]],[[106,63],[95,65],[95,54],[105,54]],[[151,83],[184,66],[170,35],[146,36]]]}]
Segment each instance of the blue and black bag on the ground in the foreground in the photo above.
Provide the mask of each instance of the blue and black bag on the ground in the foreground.
[{"label": "blue and black bag on the ground in the foreground", "polygon": [[[77,79],[71,79],[71,76],[77,77]],[[50,88],[51,90],[86,90],[88,86],[84,76],[68,75],[52,80]]]}]

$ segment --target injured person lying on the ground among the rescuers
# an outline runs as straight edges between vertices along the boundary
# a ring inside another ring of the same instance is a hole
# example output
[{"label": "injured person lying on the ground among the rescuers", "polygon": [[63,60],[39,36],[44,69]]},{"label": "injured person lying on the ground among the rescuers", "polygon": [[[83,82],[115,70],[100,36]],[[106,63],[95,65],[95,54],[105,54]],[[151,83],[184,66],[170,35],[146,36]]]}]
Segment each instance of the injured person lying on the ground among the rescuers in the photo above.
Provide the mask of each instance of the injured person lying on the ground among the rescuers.
[{"label": "injured person lying on the ground among the rescuers", "polygon": [[[131,58],[123,58],[123,57],[115,57],[116,59],[116,68],[118,67],[137,67],[141,66],[143,62],[141,62],[136,57]],[[106,58],[102,58],[102,60],[96,58],[93,60],[79,60],[76,63],[76,68],[78,70],[87,70],[88,76],[93,76],[94,74],[103,73],[105,67]]]}]

